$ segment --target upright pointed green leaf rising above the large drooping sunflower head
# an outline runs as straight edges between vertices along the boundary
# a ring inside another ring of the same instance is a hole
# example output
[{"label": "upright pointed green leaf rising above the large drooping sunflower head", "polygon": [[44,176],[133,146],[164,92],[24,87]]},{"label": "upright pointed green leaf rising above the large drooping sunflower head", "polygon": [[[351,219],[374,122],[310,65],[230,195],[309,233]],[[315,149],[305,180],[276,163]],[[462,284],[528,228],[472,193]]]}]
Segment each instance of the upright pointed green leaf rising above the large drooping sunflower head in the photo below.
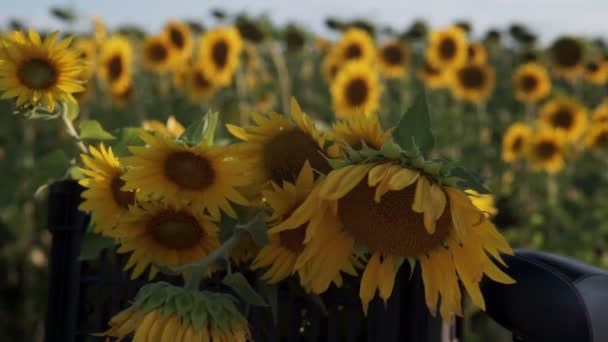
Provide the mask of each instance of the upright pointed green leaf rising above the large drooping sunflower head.
[{"label": "upright pointed green leaf rising above the large drooping sunflower head", "polygon": [[428,153],[433,149],[435,138],[431,132],[431,119],[425,90],[416,96],[412,106],[401,117],[397,128],[393,131],[393,137],[405,150],[419,148]]}]

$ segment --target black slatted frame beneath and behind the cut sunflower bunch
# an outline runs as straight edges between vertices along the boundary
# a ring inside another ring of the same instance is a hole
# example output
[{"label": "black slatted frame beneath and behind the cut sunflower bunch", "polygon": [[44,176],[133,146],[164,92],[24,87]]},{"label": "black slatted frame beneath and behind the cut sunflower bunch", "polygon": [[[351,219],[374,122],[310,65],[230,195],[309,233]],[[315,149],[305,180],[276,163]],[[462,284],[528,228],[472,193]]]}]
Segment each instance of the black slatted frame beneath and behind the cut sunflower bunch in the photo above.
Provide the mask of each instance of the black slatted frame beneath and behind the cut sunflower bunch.
[{"label": "black slatted frame beneath and behind the cut sunflower bunch", "polygon": [[[102,253],[94,262],[78,260],[89,216],[78,210],[82,188],[74,181],[50,187],[48,227],[53,236],[50,259],[47,342],[100,341],[91,334],[129,304],[144,281],[122,272],[124,257]],[[180,281],[173,279],[173,281]],[[441,340],[441,321],[428,314],[420,269],[397,275],[387,305],[376,297],[364,317],[356,279],[322,295],[327,315],[301,291],[278,291],[278,324],[269,308],[251,308],[255,341],[429,341]]]}]

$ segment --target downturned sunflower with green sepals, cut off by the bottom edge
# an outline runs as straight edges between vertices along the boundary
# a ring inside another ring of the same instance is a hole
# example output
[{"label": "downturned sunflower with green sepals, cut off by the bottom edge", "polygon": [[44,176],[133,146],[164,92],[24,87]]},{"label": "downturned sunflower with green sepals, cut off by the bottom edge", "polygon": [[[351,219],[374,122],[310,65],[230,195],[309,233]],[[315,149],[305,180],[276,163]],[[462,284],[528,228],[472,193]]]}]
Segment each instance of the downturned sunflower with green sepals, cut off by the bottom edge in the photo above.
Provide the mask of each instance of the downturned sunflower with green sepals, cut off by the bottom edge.
[{"label": "downturned sunflower with green sepals, cut off by the bottom edge", "polygon": [[103,335],[119,341],[246,342],[247,320],[234,298],[209,291],[191,291],[164,282],[144,286],[133,304],[109,322]]}]

